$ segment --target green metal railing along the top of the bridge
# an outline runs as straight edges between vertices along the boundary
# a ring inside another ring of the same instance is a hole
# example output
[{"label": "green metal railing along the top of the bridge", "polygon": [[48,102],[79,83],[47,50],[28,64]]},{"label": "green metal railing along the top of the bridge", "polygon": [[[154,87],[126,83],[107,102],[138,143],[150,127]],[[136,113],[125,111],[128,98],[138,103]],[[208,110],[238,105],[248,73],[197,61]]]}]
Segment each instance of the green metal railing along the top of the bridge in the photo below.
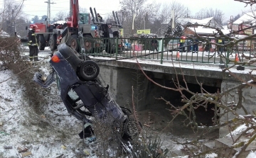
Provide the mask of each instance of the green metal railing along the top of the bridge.
[{"label": "green metal railing along the top of the bridge", "polygon": [[235,61],[250,60],[256,54],[256,39],[244,40],[232,47],[223,47],[227,43],[227,39],[220,41],[213,38],[207,41],[192,38],[83,38],[81,50],[86,55],[116,59],[138,57],[159,60],[161,64],[176,60],[227,66]]}]

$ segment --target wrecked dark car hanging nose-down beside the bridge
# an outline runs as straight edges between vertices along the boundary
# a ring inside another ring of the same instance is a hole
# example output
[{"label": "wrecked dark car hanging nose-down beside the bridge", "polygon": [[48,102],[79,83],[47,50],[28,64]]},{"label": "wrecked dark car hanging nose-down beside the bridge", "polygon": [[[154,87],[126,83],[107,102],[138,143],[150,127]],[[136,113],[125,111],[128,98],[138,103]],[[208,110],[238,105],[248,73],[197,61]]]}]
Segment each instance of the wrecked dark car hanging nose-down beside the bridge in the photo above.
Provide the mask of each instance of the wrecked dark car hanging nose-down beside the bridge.
[{"label": "wrecked dark car hanging nose-down beside the bridge", "polygon": [[82,60],[75,54],[75,50],[65,45],[58,45],[50,59],[53,67],[46,79],[36,72],[33,81],[47,87],[57,82],[60,97],[68,113],[82,120],[85,128],[79,133],[80,138],[93,135],[93,121],[97,118],[110,125],[119,140],[129,141],[139,134],[137,122],[128,108],[120,107],[110,97],[108,86],[102,86],[97,78],[100,68],[97,63],[84,57]]}]

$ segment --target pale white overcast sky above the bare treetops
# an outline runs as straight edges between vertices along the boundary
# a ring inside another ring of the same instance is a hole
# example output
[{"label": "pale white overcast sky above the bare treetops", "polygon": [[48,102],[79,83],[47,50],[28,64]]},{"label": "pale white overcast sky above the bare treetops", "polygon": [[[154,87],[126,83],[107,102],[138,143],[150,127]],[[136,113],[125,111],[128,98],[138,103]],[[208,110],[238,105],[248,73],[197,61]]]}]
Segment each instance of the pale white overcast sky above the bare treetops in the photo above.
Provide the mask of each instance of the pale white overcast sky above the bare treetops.
[{"label": "pale white overcast sky above the bare treetops", "polygon": [[[0,0],[1,4],[3,4],[4,0]],[[21,2],[21,0],[13,0],[17,2]],[[33,18],[33,16],[43,16],[47,15],[47,4],[45,1],[48,0],[25,0],[23,6],[23,13],[29,17],[29,19]],[[69,11],[69,2],[70,0],[51,0],[55,4],[51,4],[51,18],[54,18],[54,14],[59,11]],[[103,18],[107,16],[108,13],[112,11],[117,11],[120,9],[119,5],[120,0],[80,0],[79,4],[82,8],[87,9],[89,11],[90,6],[96,8],[97,12],[101,13]],[[148,0],[154,1],[154,0]],[[169,3],[173,0],[156,0],[157,3]],[[227,20],[230,16],[236,16],[238,13],[242,13],[250,9],[250,7],[245,8],[245,4],[234,1],[234,0],[180,0],[178,3],[183,4],[191,10],[191,13],[194,15],[196,12],[205,8],[212,9],[220,9],[225,13],[225,17]]]}]

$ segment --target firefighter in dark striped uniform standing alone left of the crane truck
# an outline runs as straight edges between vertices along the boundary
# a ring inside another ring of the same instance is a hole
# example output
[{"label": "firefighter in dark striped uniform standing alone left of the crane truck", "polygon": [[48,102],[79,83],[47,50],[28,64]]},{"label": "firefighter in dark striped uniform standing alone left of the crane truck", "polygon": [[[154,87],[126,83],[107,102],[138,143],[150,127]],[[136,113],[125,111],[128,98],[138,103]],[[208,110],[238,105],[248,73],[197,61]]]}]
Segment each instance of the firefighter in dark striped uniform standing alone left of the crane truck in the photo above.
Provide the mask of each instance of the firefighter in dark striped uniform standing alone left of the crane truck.
[{"label": "firefighter in dark striped uniform standing alone left of the crane truck", "polygon": [[36,25],[31,26],[28,30],[28,47],[29,47],[29,60],[38,61],[38,42],[36,40]]}]

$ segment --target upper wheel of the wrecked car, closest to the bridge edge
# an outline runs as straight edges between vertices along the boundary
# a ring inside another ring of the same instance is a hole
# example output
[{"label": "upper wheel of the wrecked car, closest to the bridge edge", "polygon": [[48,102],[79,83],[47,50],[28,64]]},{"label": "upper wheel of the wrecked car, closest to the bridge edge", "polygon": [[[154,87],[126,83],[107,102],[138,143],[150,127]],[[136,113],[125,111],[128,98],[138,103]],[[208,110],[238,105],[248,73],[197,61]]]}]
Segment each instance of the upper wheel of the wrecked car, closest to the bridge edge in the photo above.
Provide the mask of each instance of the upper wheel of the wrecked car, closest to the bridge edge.
[{"label": "upper wheel of the wrecked car, closest to the bridge edge", "polygon": [[92,60],[82,62],[79,68],[79,74],[82,79],[87,81],[95,79],[100,73],[100,67]]}]

